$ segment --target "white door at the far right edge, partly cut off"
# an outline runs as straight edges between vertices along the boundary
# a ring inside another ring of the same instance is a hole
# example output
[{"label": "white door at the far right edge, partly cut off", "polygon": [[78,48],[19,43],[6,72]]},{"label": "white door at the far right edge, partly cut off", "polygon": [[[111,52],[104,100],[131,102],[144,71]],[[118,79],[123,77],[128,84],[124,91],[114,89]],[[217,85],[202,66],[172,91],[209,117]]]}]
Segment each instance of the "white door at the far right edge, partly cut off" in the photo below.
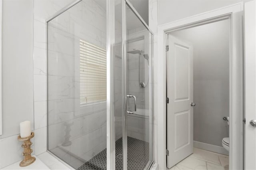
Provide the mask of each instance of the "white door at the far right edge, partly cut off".
[{"label": "white door at the far right edge, partly cut off", "polygon": [[250,124],[256,119],[256,1],[246,2],[244,10],[244,169],[256,170],[256,127]]}]

